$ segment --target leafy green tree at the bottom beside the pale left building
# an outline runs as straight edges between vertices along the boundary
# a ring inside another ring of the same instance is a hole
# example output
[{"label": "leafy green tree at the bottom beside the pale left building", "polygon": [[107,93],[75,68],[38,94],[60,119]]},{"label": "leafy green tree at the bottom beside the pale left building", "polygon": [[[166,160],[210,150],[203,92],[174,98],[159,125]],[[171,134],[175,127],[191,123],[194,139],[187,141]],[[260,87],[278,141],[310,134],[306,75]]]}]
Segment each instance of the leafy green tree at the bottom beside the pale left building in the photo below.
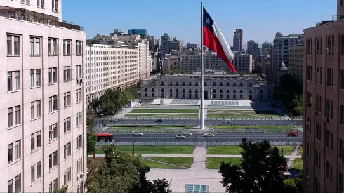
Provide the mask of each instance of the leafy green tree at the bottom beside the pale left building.
[{"label": "leafy green tree at the bottom beside the pale left building", "polygon": [[166,180],[150,182],[145,175],[150,171],[149,166],[140,156],[131,156],[119,152],[117,147],[104,147],[105,157],[98,162],[97,168],[89,168],[87,187],[88,192],[102,193],[169,193]]}]

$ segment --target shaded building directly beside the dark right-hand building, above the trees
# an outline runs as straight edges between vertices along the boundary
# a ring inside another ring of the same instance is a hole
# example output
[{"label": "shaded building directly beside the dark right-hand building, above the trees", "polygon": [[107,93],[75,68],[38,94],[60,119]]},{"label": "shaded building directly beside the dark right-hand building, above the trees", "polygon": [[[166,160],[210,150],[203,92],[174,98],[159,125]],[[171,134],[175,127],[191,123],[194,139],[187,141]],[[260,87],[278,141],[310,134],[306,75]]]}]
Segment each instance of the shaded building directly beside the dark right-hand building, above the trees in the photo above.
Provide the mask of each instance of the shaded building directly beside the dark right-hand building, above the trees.
[{"label": "shaded building directly beside the dark right-hand building, above the trees", "polygon": [[298,84],[303,84],[303,58],[305,57],[303,45],[289,48],[289,74],[296,78]]}]

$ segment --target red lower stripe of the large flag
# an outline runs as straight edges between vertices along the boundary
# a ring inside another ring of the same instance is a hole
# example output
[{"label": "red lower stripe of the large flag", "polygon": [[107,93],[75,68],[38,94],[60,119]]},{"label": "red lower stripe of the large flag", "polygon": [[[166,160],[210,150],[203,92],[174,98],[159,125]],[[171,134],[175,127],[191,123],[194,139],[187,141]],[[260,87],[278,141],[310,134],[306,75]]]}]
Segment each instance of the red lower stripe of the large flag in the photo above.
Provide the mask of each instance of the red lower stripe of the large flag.
[{"label": "red lower stripe of the large flag", "polygon": [[228,60],[220,41],[218,41],[218,38],[214,36],[206,26],[203,26],[203,45],[216,52],[218,58],[221,58],[233,72],[237,72],[232,62]]}]

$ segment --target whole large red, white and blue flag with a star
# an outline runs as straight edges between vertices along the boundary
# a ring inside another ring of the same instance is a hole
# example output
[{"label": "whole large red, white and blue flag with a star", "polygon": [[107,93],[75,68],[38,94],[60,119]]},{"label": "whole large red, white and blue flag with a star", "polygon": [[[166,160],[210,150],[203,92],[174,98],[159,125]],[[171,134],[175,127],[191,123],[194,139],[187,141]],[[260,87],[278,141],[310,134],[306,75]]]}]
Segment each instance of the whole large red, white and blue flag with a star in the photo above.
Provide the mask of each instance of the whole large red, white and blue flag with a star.
[{"label": "whole large red, white and blue flag with a star", "polygon": [[218,26],[215,24],[213,19],[211,19],[206,9],[203,8],[203,45],[216,52],[218,58],[221,58],[224,62],[227,63],[228,67],[233,71],[237,72],[234,68],[232,60],[234,54],[230,50],[225,37],[218,29]]}]

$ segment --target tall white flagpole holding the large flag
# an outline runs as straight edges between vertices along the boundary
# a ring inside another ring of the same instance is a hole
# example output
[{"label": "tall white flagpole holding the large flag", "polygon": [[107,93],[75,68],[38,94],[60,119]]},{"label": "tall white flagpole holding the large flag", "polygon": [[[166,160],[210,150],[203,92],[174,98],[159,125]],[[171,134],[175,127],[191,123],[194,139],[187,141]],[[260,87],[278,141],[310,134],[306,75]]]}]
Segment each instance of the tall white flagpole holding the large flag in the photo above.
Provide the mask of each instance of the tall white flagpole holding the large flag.
[{"label": "tall white flagpole holding the large flag", "polygon": [[204,129],[203,2],[201,2],[201,129]]}]

